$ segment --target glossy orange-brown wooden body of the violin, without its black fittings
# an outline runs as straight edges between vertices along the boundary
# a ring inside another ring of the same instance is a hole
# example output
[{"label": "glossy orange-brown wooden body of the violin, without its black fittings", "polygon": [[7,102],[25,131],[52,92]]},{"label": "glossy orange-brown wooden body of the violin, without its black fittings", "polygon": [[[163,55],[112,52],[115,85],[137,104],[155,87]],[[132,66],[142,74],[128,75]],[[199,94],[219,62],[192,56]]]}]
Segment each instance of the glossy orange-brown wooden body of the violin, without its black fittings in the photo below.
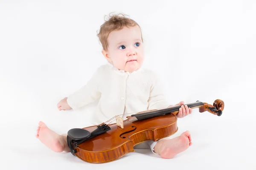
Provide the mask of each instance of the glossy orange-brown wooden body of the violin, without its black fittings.
[{"label": "glossy orange-brown wooden body of the violin, without its black fittings", "polygon": [[[108,125],[111,130],[95,136],[79,144],[76,156],[90,163],[105,163],[114,161],[129,152],[134,152],[134,146],[148,140],[157,141],[177,132],[177,117],[166,114],[138,121],[128,117],[124,128],[116,124]],[[146,128],[145,128],[146,127]],[[92,132],[97,126],[83,129]]]}]

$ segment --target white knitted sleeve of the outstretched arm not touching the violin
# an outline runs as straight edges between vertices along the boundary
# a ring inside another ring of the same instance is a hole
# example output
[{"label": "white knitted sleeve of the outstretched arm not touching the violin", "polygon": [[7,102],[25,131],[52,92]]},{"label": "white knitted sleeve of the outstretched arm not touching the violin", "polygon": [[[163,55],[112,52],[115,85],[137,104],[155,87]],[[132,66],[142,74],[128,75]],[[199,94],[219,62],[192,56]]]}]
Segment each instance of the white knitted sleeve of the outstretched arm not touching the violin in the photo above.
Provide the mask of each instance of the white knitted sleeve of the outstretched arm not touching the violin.
[{"label": "white knitted sleeve of the outstretched arm not touching the violin", "polygon": [[86,85],[82,86],[78,91],[74,92],[67,98],[67,104],[76,110],[84,105],[96,101],[101,96],[99,91],[99,80],[102,73],[98,68]]}]

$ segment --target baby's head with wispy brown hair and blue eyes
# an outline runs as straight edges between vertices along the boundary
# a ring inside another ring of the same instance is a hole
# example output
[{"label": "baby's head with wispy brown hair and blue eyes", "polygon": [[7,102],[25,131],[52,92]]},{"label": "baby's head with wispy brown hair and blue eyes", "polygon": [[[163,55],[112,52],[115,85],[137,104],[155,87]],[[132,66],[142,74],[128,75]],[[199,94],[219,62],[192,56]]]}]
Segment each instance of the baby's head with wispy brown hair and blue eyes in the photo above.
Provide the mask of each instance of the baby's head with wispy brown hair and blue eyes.
[{"label": "baby's head with wispy brown hair and blue eyes", "polygon": [[140,26],[124,15],[113,15],[102,24],[99,34],[102,54],[119,70],[133,72],[144,61]]}]

